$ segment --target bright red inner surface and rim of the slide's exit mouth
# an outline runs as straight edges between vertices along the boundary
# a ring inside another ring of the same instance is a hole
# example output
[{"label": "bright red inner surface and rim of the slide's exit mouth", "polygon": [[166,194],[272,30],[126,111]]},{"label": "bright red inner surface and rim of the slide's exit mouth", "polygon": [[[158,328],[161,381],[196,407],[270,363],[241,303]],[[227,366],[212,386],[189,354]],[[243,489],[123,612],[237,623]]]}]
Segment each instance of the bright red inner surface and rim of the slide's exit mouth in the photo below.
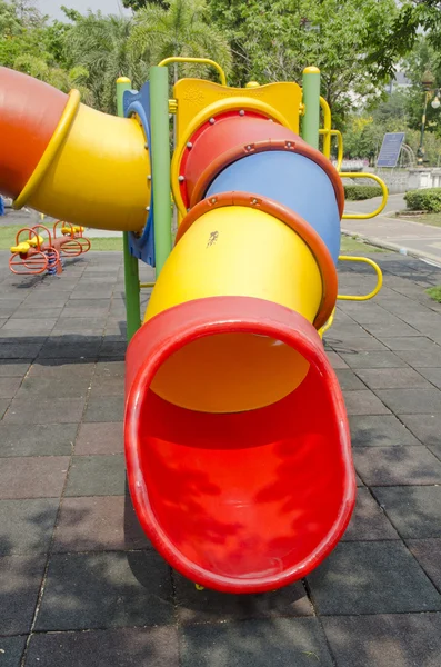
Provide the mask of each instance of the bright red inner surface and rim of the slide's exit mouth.
[{"label": "bright red inner surface and rim of the slide's exit mouth", "polygon": [[156,384],[171,357],[149,386],[138,372],[132,388],[126,432],[138,516],[173,567],[218,590],[257,593],[305,576],[353,507],[344,407],[332,370],[323,372],[324,350],[315,346],[311,358],[312,348],[282,345],[308,358],[305,377],[264,407],[214,414],[164,400]]}]

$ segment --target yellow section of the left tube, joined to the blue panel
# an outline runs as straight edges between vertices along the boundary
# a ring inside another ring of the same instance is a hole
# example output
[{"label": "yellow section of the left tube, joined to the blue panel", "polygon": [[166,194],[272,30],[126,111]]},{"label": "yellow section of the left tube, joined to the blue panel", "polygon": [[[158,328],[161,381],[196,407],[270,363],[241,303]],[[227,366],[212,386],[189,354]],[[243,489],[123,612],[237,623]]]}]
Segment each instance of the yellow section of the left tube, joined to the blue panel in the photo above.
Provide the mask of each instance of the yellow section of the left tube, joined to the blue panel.
[{"label": "yellow section of the left tube, joined to the blue panel", "polygon": [[140,231],[150,203],[151,169],[139,121],[84,104],[68,119],[67,112],[68,108],[57,128],[63,128],[62,136],[58,132],[61,140],[49,143],[18,198],[19,206],[26,203],[73,225]]}]

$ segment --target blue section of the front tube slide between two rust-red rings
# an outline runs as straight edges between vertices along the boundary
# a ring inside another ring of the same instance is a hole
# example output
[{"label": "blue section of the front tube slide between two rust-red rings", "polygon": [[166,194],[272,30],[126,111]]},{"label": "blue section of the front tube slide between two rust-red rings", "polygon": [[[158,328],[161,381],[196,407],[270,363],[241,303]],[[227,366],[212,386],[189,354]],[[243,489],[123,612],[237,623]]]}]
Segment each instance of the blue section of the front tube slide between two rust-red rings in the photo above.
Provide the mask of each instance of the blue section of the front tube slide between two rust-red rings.
[{"label": "blue section of the front tube slide between two rust-red rings", "polygon": [[288,151],[247,156],[221,171],[206,197],[242,190],[290,208],[315,229],[334,263],[340,253],[340,215],[334,189],[319,165]]}]

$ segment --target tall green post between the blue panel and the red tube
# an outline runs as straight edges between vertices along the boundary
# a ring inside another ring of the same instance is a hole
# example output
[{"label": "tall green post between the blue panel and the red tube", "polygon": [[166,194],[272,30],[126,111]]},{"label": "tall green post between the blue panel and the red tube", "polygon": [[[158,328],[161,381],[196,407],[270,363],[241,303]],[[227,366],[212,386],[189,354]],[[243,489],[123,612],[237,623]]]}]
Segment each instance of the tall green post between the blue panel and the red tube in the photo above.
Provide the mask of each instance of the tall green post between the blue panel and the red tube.
[{"label": "tall green post between the blue panel and the red tube", "polygon": [[150,68],[151,158],[157,279],[171,252],[169,70]]}]

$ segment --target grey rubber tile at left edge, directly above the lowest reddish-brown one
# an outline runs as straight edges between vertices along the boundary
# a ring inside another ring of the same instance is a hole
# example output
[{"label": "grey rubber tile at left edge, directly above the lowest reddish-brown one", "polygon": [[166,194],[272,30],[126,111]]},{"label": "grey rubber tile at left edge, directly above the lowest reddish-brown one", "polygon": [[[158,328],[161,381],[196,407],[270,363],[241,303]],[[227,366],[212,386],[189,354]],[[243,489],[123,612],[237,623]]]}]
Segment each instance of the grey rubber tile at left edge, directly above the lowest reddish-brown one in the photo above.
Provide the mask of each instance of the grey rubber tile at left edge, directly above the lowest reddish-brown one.
[{"label": "grey rubber tile at left edge, directly above the lowest reddish-brown one", "polygon": [[77,424],[0,422],[0,458],[22,456],[69,456],[78,430]]}]

